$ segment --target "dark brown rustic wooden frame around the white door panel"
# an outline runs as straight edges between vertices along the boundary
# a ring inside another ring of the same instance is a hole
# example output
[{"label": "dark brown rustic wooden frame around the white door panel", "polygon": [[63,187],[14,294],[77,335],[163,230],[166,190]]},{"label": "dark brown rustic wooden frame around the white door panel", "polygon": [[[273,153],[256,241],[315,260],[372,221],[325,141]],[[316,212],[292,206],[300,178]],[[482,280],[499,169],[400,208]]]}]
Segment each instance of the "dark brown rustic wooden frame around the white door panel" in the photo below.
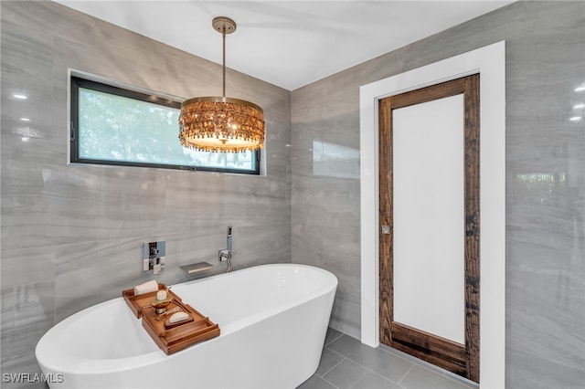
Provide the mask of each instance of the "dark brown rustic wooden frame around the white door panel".
[{"label": "dark brown rustic wooden frame around the white door panel", "polygon": [[[479,382],[479,74],[452,79],[379,100],[380,225],[390,226],[379,236],[380,342]],[[420,331],[394,321],[394,178],[393,110],[463,94],[463,212],[464,212],[464,342]],[[386,188],[386,191],[382,191]],[[380,226],[381,227],[381,226]]]}]

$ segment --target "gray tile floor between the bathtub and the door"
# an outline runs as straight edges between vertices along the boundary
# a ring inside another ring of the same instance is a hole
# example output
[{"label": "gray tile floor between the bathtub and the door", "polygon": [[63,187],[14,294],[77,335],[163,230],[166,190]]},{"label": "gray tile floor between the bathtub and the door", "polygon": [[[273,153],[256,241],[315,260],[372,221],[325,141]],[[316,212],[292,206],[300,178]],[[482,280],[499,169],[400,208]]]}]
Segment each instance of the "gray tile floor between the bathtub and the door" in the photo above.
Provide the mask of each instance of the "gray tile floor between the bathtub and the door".
[{"label": "gray tile floor between the bathtub and the door", "polygon": [[321,363],[297,389],[477,389],[478,385],[411,357],[380,346],[373,349],[329,328]]}]

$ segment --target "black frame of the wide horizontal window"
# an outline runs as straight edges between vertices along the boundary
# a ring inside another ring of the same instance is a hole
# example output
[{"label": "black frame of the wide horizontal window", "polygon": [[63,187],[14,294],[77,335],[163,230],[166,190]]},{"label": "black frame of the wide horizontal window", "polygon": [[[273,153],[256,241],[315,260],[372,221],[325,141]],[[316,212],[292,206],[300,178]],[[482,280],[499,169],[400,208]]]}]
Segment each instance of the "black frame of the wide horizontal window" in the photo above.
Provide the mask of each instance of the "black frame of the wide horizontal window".
[{"label": "black frame of the wide horizontal window", "polygon": [[[95,79],[84,78],[82,76],[71,74],[69,76],[69,163],[87,163],[97,165],[110,165],[110,166],[135,166],[135,167],[146,167],[146,168],[157,168],[157,169],[174,169],[174,170],[186,170],[196,172],[215,172],[215,173],[236,173],[236,174],[253,174],[260,175],[261,166],[261,152],[253,151],[252,169],[233,169],[233,168],[220,168],[210,166],[192,166],[192,165],[181,165],[181,164],[165,164],[165,163],[139,163],[130,161],[116,161],[116,160],[102,160],[102,159],[90,159],[80,157],[80,144],[79,144],[79,123],[80,123],[80,105],[79,105],[79,89],[91,89],[102,93],[111,94],[114,96],[120,96],[127,99],[139,100],[149,102],[163,107],[174,108],[180,110],[181,101],[173,100],[168,96],[157,95],[155,92],[143,92],[132,87],[120,87],[117,85],[107,84],[102,81]],[[178,123],[177,123],[178,127]],[[179,142],[178,137],[176,142]]]}]

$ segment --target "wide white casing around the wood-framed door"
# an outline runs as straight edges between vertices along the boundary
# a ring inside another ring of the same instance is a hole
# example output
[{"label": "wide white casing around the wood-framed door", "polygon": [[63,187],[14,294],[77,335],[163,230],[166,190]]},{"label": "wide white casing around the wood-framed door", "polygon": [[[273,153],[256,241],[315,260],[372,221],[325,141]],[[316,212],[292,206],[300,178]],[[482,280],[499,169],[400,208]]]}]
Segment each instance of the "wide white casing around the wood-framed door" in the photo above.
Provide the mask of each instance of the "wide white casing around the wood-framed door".
[{"label": "wide white casing around the wood-framed door", "polygon": [[480,388],[505,386],[505,41],[360,87],[361,342],[379,345],[378,100],[479,72],[482,285]]}]

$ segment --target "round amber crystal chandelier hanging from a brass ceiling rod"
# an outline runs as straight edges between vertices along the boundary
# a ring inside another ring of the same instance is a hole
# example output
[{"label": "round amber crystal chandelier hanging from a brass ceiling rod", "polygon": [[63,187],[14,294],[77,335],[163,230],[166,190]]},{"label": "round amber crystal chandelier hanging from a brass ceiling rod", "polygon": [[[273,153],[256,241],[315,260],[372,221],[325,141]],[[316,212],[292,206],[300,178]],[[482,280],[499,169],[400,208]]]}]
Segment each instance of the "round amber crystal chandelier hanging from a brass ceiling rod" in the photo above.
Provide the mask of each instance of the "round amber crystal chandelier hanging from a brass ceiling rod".
[{"label": "round amber crystal chandelier hanging from a brass ceiling rod", "polygon": [[236,31],[229,17],[213,19],[223,37],[223,96],[185,100],[179,115],[179,141],[202,152],[246,152],[264,145],[264,113],[250,101],[226,97],[226,35]]}]

